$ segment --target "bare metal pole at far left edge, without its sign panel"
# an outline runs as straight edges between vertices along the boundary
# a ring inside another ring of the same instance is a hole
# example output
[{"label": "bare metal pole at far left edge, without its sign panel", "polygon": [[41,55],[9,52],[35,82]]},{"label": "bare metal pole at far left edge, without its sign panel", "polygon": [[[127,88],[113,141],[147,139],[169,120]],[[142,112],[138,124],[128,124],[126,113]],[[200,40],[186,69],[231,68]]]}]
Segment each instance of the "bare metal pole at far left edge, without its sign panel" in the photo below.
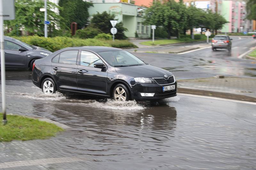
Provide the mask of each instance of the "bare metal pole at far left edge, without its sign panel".
[{"label": "bare metal pole at far left edge, without its sign panel", "polygon": [[6,124],[6,102],[5,102],[5,58],[4,58],[4,13],[3,0],[0,0],[0,56],[1,56],[1,89],[2,89],[2,112],[3,123]]}]

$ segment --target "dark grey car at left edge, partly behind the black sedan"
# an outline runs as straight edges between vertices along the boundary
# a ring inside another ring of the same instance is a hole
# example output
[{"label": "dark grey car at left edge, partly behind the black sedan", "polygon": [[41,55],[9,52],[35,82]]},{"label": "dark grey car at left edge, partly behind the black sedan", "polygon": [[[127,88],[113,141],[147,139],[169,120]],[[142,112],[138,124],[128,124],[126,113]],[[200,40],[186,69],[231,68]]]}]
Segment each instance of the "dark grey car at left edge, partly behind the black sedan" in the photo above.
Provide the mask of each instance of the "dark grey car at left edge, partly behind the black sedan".
[{"label": "dark grey car at left edge, partly behind the black sedan", "polygon": [[4,36],[4,56],[6,68],[30,68],[36,59],[44,58],[52,52],[31,46],[18,39]]}]

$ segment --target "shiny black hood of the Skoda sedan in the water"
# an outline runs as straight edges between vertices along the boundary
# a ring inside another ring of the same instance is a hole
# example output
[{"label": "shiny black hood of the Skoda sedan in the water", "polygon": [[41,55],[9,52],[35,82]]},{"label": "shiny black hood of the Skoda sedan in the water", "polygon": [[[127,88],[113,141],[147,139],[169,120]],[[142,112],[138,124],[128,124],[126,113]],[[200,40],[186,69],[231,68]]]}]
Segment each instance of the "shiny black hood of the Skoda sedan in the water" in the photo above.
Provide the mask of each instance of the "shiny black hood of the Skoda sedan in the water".
[{"label": "shiny black hood of the Skoda sedan in the water", "polygon": [[147,65],[130,66],[130,67],[115,67],[116,72],[131,77],[164,77],[166,74],[168,77],[173,75],[171,72],[159,67]]}]

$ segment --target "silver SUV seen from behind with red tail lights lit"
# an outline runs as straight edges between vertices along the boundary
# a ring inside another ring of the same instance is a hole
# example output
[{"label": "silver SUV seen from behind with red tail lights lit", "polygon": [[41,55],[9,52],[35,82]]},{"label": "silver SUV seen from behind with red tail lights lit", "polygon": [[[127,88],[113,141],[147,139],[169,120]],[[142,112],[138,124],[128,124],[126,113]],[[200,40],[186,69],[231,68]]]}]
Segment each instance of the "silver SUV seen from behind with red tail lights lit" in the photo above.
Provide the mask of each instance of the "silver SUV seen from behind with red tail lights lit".
[{"label": "silver SUV seen from behind with red tail lights lit", "polygon": [[212,39],[212,50],[219,49],[227,49],[228,51],[231,51],[231,42],[232,39],[228,35],[216,35]]}]

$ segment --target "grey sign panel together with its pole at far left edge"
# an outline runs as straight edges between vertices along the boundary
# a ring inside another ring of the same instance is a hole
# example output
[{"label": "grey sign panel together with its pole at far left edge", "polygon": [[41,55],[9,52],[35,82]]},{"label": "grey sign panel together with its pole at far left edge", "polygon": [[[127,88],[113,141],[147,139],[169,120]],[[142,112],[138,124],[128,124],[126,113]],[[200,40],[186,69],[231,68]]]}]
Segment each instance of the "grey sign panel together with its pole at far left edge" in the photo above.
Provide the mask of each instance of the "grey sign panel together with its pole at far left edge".
[{"label": "grey sign panel together with its pole at far left edge", "polygon": [[5,58],[4,58],[4,20],[15,19],[14,0],[0,0],[0,57],[1,57],[1,89],[2,89],[2,112],[3,123],[6,119],[5,101]]}]

